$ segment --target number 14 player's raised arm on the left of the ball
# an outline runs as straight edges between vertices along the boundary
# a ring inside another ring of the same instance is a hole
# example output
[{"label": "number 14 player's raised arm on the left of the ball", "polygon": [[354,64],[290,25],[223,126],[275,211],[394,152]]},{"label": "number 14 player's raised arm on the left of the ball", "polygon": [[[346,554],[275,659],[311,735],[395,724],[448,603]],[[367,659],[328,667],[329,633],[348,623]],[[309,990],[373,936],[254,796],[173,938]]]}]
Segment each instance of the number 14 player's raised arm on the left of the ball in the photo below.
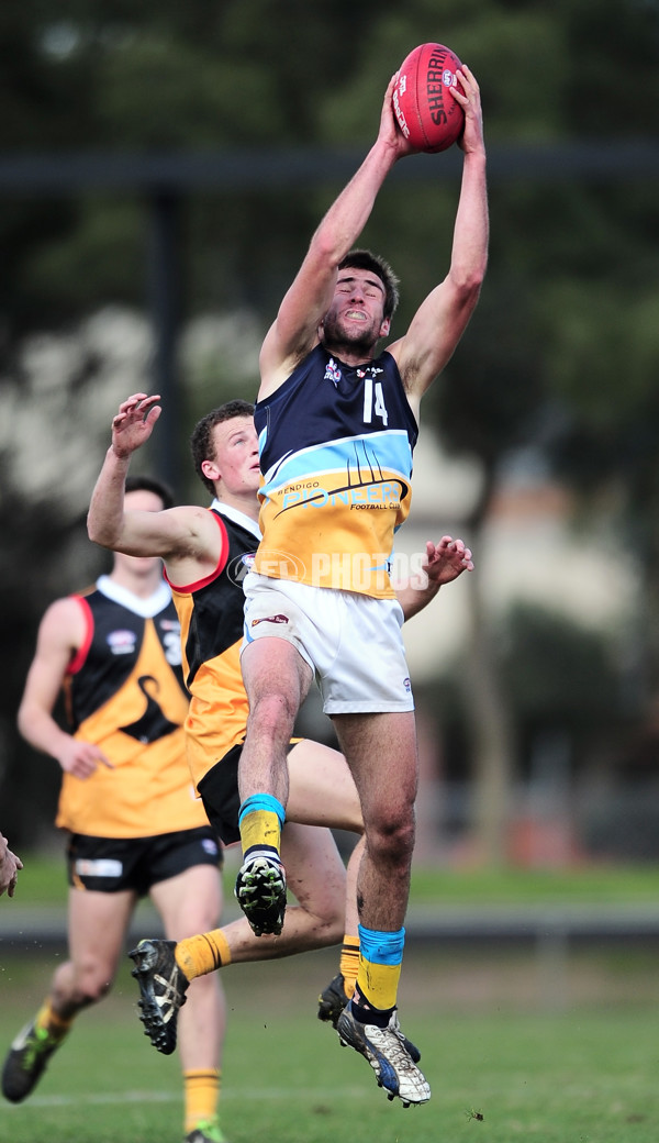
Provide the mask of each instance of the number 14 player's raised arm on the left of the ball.
[{"label": "number 14 player's raised arm on the left of the ball", "polygon": [[413,153],[396,126],[392,105],[395,80],[393,75],[385,91],[376,142],[315,231],[263,343],[259,398],[274,392],[316,344],[320,321],[332,299],[339,262],[359,239],[394,163]]}]

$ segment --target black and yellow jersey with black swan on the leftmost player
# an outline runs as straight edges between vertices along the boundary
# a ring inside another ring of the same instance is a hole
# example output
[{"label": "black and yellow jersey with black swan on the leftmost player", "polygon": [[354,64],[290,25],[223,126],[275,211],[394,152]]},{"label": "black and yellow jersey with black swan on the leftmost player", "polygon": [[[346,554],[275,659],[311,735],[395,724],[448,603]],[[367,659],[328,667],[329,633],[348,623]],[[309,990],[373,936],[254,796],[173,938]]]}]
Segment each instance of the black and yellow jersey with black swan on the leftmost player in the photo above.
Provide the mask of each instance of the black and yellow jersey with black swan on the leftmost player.
[{"label": "black and yellow jersey with black swan on the leftmost player", "polygon": [[73,598],[87,632],[64,680],[70,728],[113,768],[101,762],[86,780],[64,774],[57,825],[99,838],[208,825],[185,757],[188,695],[169,588],[143,600],[102,576]]}]

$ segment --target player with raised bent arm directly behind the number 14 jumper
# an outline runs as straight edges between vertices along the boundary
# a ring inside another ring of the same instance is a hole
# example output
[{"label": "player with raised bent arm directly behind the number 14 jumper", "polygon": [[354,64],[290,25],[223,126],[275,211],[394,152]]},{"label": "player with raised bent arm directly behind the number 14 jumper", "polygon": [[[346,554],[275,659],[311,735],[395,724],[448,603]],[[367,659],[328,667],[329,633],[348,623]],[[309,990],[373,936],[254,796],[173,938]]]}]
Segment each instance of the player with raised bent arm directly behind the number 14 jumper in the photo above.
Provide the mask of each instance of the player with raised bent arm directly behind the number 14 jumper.
[{"label": "player with raised bent arm directly behind the number 14 jumper", "polygon": [[[148,439],[160,415],[159,398],[137,393],[120,406],[89,510],[89,534],[109,547],[131,554],[160,554],[182,618],[184,670],[192,698],[186,720],[188,758],[209,820],[225,844],[239,839],[238,760],[247,727],[240,672],[242,578],[259,541],[257,525],[258,449],[252,407],[230,401],[203,417],[192,434],[196,471],[214,496],[210,509],[175,507],[158,515],[124,510],[123,482],[130,457]],[[128,507],[128,505],[127,505]],[[399,599],[416,614],[442,583],[471,568],[461,541],[443,537],[427,545],[427,582],[407,585]],[[136,975],[146,990],[154,975],[171,978],[169,999],[143,992],[143,1020],[152,1042],[171,1050],[176,1028],[171,1006],[182,1002],[187,983],[230,962],[271,959],[337,943],[340,972],[324,990],[322,1018],[336,1024],[352,994],[359,964],[355,879],[362,844],[345,870],[328,826],[362,832],[356,789],[345,759],[335,750],[303,740],[288,754],[289,799],[281,833],[288,887],[300,902],[286,912],[281,935],[256,937],[244,918],[170,948],[142,942]],[[345,925],[344,925],[345,920]],[[145,948],[147,946],[147,948]]]}]

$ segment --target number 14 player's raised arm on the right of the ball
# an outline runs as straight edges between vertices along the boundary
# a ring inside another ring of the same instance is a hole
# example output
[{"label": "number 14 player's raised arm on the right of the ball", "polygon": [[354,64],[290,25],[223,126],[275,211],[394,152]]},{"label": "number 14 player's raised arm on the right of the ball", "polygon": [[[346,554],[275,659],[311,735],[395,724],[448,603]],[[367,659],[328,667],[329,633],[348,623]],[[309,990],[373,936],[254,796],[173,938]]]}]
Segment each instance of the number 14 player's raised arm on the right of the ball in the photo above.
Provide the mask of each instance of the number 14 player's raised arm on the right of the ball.
[{"label": "number 14 player's raised arm on the right of the ball", "polygon": [[444,280],[419,306],[408,333],[388,346],[415,411],[453,354],[474,312],[488,264],[489,217],[481,93],[466,65],[452,89],[465,111],[459,146],[465,153],[451,263]]}]

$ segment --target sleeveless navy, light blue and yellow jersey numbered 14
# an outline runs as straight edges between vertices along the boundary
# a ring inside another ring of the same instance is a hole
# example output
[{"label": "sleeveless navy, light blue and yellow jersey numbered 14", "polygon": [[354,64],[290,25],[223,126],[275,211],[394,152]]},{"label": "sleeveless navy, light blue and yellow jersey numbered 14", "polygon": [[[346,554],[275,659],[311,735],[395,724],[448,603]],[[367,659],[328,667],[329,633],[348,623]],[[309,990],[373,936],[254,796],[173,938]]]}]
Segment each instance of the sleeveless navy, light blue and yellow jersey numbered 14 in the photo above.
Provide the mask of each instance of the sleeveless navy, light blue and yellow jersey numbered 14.
[{"label": "sleeveless navy, light blue and yellow jersey numbered 14", "polygon": [[255,570],[393,598],[416,417],[394,358],[346,366],[316,345],[255,411],[263,485]]}]

